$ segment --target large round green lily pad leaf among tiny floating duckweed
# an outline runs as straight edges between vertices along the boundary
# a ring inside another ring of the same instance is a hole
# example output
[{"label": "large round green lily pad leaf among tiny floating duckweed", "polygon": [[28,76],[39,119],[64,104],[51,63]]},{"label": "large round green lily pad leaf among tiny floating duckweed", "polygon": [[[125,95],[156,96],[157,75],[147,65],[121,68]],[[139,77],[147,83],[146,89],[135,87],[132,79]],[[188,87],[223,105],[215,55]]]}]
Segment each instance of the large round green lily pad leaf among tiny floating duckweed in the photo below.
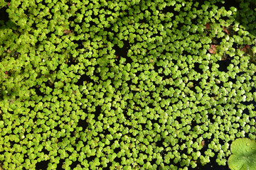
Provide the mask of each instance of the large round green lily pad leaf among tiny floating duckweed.
[{"label": "large round green lily pad leaf among tiny floating duckweed", "polygon": [[256,141],[248,138],[240,138],[231,144],[231,156],[228,166],[231,170],[255,170],[256,169]]}]

